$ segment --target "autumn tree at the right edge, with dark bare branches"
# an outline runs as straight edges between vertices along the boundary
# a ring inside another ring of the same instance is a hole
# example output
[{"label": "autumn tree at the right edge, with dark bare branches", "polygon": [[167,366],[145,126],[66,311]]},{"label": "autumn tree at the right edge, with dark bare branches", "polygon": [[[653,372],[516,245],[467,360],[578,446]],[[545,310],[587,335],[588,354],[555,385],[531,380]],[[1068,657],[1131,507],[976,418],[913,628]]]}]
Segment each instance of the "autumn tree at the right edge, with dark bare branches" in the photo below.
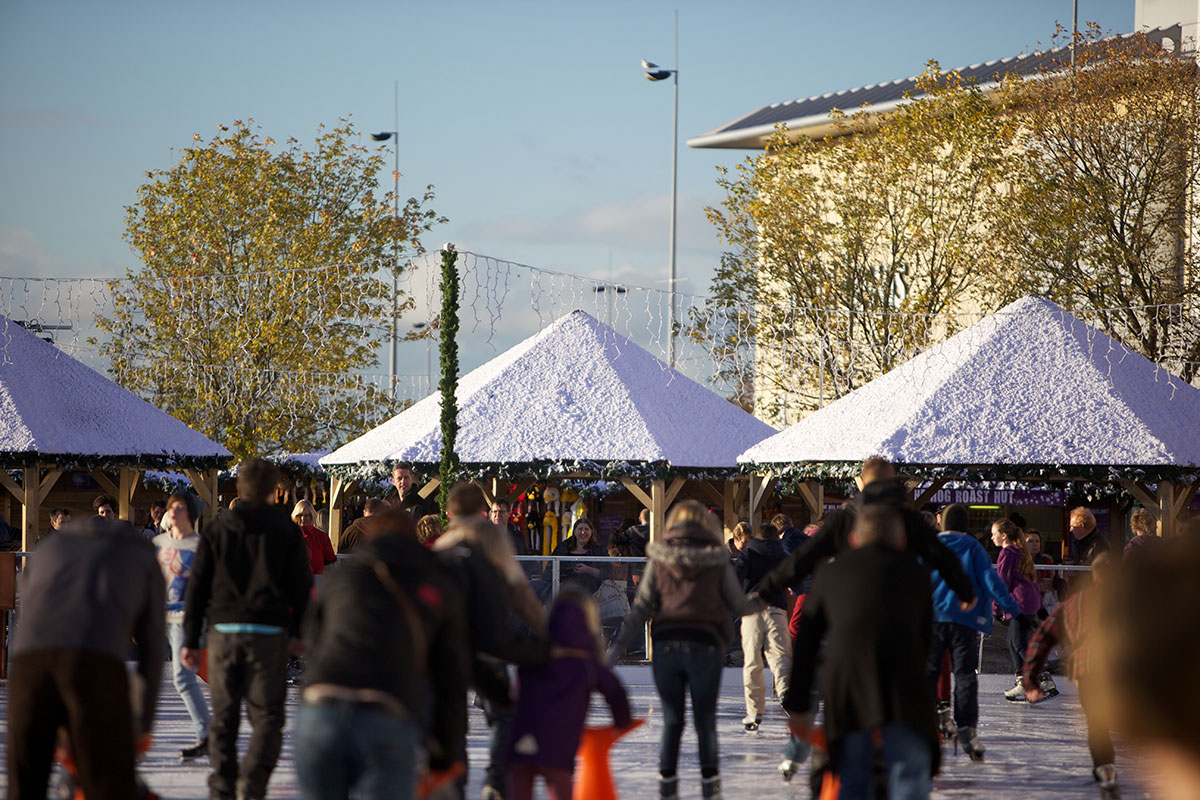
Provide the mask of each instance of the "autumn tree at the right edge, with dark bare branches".
[{"label": "autumn tree at the right edge, with dark bare branches", "polygon": [[[1098,31],[1091,31],[1096,35]],[[1021,125],[996,302],[1042,294],[1192,380],[1200,362],[1200,74],[1146,34],[1076,41],[1000,92]]]}]

